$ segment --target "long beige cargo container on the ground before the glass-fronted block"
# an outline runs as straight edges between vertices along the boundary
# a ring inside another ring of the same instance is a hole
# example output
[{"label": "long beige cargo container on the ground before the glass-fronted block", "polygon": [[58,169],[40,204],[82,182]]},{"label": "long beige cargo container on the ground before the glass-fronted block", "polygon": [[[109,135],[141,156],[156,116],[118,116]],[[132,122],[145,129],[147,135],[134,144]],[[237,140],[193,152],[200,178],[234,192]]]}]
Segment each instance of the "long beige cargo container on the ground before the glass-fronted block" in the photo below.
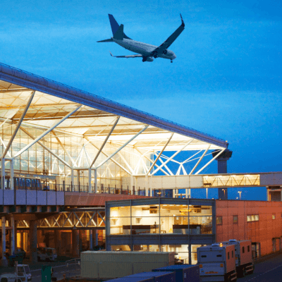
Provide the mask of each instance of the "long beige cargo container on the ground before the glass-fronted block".
[{"label": "long beige cargo container on the ground before the glass-fronted block", "polygon": [[81,252],[81,276],[113,279],[174,264],[174,252]]}]

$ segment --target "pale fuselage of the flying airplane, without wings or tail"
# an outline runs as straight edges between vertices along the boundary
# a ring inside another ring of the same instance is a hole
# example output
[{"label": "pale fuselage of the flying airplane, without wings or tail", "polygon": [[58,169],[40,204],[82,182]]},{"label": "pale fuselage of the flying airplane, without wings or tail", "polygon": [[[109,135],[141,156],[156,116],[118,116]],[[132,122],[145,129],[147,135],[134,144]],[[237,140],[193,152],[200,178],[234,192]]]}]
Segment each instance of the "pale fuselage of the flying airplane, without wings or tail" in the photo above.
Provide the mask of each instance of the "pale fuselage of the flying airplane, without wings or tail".
[{"label": "pale fuselage of the flying airplane, without wings or tail", "polygon": [[[128,49],[129,51],[133,51],[137,54],[141,54],[145,57],[150,56],[150,54],[152,54],[152,51],[157,48],[157,46],[154,46],[152,44],[138,42],[132,39],[123,38],[122,40],[120,40],[115,39],[114,37],[111,37],[111,39],[113,39],[114,42],[116,42],[116,44],[120,45],[121,47]],[[158,57],[173,60],[176,59],[176,54],[174,54],[171,50],[166,50],[166,54],[158,54]]]}]

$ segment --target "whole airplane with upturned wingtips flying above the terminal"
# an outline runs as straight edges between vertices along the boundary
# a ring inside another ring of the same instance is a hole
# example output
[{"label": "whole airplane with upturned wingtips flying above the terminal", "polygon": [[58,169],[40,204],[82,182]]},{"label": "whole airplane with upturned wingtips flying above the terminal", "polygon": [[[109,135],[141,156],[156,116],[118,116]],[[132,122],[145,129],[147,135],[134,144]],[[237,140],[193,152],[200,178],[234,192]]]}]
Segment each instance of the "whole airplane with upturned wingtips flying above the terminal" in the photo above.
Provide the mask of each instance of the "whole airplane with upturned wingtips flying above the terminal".
[{"label": "whole airplane with upturned wingtips flying above the terminal", "polygon": [[111,56],[116,58],[142,58],[142,61],[148,61],[152,62],[154,61],[154,58],[164,58],[171,60],[171,63],[174,59],[176,59],[176,54],[173,53],[173,51],[168,50],[168,47],[173,44],[174,40],[180,35],[181,32],[183,32],[185,24],[183,21],[183,18],[180,14],[181,18],[181,25],[178,27],[178,29],[173,32],[173,34],[166,39],[166,41],[158,46],[154,46],[151,44],[143,43],[135,41],[128,36],[125,35],[123,32],[123,25],[118,25],[113,15],[109,14],[109,20],[111,23],[111,31],[113,32],[113,37],[110,39],[105,39],[97,42],[115,42],[116,44],[120,45],[121,47],[128,49],[130,51],[133,51],[137,54],[130,55],[130,56]]}]

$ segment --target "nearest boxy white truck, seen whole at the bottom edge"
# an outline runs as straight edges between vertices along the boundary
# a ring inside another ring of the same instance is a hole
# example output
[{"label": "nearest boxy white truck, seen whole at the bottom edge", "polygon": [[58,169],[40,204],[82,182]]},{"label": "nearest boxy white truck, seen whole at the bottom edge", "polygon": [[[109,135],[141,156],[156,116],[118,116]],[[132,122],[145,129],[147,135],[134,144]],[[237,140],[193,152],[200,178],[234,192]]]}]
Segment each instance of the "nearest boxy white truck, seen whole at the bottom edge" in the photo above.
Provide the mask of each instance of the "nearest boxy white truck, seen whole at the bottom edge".
[{"label": "nearest boxy white truck, seen whole at the bottom edge", "polygon": [[197,248],[201,281],[236,281],[235,246],[212,244]]}]

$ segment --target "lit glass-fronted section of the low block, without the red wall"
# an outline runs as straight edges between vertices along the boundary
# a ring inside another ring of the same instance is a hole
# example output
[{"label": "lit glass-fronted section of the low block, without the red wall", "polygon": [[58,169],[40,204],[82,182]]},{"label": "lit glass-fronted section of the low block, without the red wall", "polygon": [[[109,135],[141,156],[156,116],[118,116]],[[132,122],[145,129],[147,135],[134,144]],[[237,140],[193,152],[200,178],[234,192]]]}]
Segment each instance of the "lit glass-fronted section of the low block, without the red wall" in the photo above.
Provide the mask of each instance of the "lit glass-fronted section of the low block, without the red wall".
[{"label": "lit glass-fronted section of the low block, without the red wall", "polygon": [[214,200],[151,198],[106,202],[106,250],[176,252],[197,263],[197,247],[215,242]]}]

